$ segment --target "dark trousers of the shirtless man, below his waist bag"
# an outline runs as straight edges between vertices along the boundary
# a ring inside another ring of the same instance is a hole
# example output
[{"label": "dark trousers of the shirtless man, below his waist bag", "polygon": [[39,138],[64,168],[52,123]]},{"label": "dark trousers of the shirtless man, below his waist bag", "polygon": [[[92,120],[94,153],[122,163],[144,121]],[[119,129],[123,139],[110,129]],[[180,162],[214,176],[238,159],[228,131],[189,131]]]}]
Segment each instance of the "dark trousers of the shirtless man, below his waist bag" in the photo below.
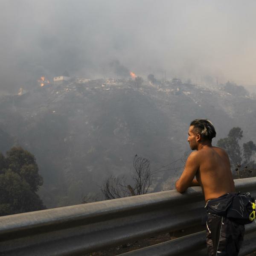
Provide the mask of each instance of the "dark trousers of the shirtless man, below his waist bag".
[{"label": "dark trousers of the shirtless man, below his waist bag", "polygon": [[244,225],[227,217],[207,214],[207,250],[209,256],[237,256],[244,238]]}]

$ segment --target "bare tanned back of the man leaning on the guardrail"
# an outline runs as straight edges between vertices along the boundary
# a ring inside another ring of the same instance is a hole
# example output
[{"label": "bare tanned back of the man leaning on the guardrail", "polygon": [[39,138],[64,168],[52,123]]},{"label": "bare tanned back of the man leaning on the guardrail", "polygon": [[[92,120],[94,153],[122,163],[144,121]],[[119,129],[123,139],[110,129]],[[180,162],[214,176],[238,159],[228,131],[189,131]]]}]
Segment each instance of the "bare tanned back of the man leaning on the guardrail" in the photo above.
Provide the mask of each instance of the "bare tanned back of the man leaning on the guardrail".
[{"label": "bare tanned back of the man leaning on the guardrail", "polygon": [[199,165],[196,179],[202,187],[205,201],[235,192],[229,158],[223,149],[204,146],[195,153]]}]

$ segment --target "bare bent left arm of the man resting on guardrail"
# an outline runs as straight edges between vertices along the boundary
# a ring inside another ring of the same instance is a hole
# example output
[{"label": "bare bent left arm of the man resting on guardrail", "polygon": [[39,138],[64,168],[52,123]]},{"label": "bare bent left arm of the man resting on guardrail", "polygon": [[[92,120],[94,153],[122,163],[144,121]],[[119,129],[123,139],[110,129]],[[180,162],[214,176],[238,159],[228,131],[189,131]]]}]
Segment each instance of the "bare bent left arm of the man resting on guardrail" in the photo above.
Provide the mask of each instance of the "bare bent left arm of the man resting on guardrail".
[{"label": "bare bent left arm of the man resting on guardrail", "polygon": [[194,179],[196,172],[199,169],[198,152],[192,152],[187,161],[185,169],[180,178],[175,183],[175,188],[178,192],[186,191],[189,186],[200,186],[198,181]]}]

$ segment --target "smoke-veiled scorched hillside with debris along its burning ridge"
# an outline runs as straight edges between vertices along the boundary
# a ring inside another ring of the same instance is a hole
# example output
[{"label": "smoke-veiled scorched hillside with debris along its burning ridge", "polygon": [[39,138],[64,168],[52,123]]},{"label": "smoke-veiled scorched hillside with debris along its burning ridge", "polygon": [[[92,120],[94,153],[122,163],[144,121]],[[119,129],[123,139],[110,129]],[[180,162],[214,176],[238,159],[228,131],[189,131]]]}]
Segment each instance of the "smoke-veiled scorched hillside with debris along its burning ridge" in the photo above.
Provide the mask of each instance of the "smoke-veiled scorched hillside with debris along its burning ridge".
[{"label": "smoke-veiled scorched hillside with debris along its burning ridge", "polygon": [[[153,171],[182,157],[195,118],[212,120],[213,144],[234,126],[244,130],[244,140],[256,142],[255,116],[256,100],[234,84],[73,79],[2,96],[0,150],[19,144],[35,154],[44,177],[41,198],[57,207],[98,193],[111,174],[128,175],[135,154],[148,158]],[[179,172],[157,173],[153,189],[168,189],[163,181],[172,184]]]}]

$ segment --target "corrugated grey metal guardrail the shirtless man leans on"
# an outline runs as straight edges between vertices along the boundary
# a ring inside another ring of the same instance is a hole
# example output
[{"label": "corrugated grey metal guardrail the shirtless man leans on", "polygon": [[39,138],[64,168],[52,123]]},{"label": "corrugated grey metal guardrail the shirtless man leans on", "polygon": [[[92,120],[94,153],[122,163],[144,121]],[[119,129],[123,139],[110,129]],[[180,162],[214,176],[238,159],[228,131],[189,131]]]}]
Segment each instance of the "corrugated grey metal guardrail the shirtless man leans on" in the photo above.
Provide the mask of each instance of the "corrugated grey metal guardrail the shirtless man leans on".
[{"label": "corrugated grey metal guardrail the shirtless man leans on", "polygon": [[[256,196],[256,177],[235,180],[236,190]],[[201,224],[200,187],[119,198],[0,217],[0,256],[81,256],[159,233]],[[239,255],[256,250],[256,224],[246,228]],[[204,253],[204,231],[123,255]],[[144,253],[143,253],[144,250]],[[145,250],[147,253],[145,253]]]}]

